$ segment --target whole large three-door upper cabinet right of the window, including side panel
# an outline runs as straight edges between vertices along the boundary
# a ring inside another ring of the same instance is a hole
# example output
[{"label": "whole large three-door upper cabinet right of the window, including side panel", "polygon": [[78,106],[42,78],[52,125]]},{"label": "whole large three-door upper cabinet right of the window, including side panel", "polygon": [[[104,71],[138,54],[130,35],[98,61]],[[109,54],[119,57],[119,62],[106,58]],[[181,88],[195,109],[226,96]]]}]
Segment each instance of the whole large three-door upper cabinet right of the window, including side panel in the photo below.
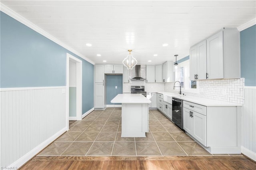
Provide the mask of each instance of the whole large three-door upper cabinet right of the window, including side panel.
[{"label": "whole large three-door upper cabinet right of the window, including side panel", "polygon": [[240,34],[224,28],[190,48],[190,80],[240,78]]}]

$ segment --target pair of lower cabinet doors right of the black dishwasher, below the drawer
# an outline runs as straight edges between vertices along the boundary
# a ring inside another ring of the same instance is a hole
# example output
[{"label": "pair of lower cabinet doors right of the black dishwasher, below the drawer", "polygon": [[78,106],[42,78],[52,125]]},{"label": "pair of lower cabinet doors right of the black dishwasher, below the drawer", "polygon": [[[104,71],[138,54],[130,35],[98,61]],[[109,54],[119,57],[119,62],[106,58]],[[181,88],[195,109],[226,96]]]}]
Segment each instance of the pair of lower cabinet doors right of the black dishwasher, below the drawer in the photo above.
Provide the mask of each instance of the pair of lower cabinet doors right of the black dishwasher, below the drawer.
[{"label": "pair of lower cabinet doors right of the black dishwasher, below the drawer", "polygon": [[183,129],[206,146],[206,116],[183,107]]}]

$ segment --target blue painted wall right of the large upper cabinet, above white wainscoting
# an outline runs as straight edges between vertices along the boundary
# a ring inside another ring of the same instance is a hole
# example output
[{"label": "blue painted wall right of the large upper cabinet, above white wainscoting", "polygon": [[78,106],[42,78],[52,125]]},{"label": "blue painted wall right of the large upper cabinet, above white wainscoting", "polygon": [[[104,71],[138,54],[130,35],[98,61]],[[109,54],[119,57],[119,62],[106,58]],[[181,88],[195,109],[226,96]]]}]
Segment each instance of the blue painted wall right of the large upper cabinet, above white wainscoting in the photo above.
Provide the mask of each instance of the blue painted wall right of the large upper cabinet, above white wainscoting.
[{"label": "blue painted wall right of the large upper cabinet, above white wainscoting", "polygon": [[256,25],[240,32],[241,77],[245,86],[256,86]]}]

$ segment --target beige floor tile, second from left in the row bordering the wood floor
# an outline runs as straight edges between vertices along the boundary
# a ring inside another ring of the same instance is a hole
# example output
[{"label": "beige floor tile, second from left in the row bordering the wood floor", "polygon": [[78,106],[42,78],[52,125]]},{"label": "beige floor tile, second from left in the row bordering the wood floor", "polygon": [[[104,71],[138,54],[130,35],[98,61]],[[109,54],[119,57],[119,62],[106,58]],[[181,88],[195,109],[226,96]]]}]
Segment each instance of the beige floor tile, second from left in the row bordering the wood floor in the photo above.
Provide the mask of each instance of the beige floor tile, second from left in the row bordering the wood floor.
[{"label": "beige floor tile, second from left in the row bordering the wood floor", "polygon": [[61,155],[85,155],[93,142],[73,142]]}]

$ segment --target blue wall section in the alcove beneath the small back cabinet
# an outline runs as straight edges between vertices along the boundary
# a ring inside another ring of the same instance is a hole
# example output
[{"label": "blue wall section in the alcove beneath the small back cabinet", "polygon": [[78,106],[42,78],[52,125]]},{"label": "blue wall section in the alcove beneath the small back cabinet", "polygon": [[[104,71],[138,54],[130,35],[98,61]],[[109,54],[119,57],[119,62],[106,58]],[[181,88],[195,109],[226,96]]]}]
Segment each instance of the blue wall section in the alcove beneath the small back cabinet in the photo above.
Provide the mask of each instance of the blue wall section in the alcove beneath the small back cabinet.
[{"label": "blue wall section in the alcove beneath the small back cabinet", "polygon": [[[117,89],[115,88],[117,86]],[[118,94],[123,93],[123,76],[106,75],[106,104],[113,105],[110,101]],[[121,105],[121,103],[115,103]]]}]

